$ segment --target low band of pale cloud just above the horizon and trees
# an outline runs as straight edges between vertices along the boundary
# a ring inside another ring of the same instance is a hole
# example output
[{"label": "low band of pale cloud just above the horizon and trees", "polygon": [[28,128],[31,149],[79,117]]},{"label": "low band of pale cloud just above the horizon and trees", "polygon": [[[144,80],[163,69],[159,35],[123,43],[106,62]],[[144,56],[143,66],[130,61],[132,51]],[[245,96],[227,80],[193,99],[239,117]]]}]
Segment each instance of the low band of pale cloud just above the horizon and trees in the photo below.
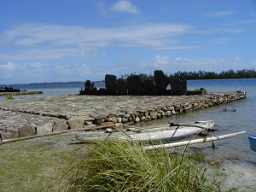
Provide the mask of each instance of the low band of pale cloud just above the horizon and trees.
[{"label": "low band of pale cloud just above the horizon and trees", "polygon": [[102,80],[105,74],[111,73],[119,78],[125,73],[154,73],[163,70],[164,73],[177,71],[228,71],[256,68],[256,61],[247,61],[239,56],[232,58],[191,58],[171,57],[170,55],[154,55],[151,61],[133,61],[124,58],[115,66],[104,63],[90,66],[86,63],[57,63],[50,65],[42,62],[0,62],[0,84],[53,82],[73,80]]}]

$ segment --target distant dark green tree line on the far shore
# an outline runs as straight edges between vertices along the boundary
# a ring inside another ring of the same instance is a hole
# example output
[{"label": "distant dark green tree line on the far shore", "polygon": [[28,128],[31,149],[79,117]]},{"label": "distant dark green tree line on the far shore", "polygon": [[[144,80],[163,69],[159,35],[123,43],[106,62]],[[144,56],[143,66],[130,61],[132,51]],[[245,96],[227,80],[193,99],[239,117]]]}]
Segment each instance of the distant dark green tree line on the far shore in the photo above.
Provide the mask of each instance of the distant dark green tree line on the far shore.
[{"label": "distant dark green tree line on the far shore", "polygon": [[[154,79],[152,74],[145,74],[145,73],[128,73],[125,75],[121,75],[122,79],[127,79],[129,76],[132,75],[139,75],[142,80],[145,79]],[[206,72],[206,71],[198,71],[198,72],[181,72],[178,71],[177,73],[171,73],[170,75],[166,76],[170,78],[179,78],[179,79],[187,79],[187,80],[195,80],[195,79],[252,79],[256,78],[256,71],[254,69],[242,69],[236,70],[230,69],[229,71],[223,71],[221,73],[216,72]]]}]

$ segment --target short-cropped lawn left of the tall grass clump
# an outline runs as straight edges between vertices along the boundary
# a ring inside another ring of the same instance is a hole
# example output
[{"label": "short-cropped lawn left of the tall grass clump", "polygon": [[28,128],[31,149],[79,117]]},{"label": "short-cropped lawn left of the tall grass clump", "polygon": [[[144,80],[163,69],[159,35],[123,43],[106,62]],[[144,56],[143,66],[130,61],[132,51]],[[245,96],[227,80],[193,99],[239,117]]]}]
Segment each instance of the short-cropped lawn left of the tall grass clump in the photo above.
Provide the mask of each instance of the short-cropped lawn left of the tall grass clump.
[{"label": "short-cropped lawn left of the tall grass clump", "polygon": [[70,155],[77,146],[63,143],[72,139],[70,134],[0,145],[0,191],[65,191],[64,173],[77,158]]}]

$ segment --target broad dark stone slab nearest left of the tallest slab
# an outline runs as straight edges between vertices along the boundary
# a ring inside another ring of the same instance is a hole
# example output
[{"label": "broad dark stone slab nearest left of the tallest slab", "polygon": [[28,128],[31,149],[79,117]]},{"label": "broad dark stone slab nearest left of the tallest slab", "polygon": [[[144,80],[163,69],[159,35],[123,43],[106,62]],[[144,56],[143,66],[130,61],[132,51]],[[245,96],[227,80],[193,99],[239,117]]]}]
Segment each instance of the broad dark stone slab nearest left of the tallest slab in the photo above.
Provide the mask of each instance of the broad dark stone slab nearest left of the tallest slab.
[{"label": "broad dark stone slab nearest left of the tallest slab", "polygon": [[127,78],[128,95],[142,96],[143,95],[143,82],[138,75],[131,75]]}]

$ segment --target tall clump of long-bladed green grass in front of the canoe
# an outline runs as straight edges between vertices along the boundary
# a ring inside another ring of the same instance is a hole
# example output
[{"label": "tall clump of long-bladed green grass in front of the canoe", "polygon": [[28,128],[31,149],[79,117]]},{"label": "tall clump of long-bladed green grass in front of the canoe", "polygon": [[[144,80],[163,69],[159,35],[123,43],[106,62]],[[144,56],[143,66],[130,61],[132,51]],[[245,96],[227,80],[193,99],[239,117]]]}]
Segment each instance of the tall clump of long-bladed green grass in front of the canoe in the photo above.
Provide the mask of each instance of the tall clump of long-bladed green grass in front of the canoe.
[{"label": "tall clump of long-bladed green grass in front of the canoe", "polygon": [[220,191],[205,168],[182,152],[147,151],[116,140],[86,148],[88,156],[73,167],[69,191]]}]

